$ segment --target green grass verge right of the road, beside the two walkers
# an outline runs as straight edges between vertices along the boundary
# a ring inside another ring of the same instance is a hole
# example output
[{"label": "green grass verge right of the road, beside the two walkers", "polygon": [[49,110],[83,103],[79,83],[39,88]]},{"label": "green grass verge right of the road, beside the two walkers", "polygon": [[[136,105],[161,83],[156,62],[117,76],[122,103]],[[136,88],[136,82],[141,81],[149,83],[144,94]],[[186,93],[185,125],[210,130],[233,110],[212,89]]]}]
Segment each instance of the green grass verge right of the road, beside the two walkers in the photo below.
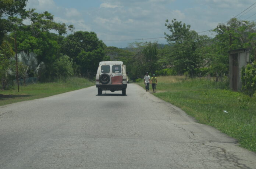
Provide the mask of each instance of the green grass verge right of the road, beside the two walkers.
[{"label": "green grass verge right of the road, beside the two walkers", "polygon": [[[215,127],[256,152],[256,99],[214,82],[185,77],[158,77],[155,96],[180,107],[198,122]],[[143,83],[139,83],[144,87]],[[150,89],[152,91],[152,89]],[[227,111],[228,113],[225,113]]]}]

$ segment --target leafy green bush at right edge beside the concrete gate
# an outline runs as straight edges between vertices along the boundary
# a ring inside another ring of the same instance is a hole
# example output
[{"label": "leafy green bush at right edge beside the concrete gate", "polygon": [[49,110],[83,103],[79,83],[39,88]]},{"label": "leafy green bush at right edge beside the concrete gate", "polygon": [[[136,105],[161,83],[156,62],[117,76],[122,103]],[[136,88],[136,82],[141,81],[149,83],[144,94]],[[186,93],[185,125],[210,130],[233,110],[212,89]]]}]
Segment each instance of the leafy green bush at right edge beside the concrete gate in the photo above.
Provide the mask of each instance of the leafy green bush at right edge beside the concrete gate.
[{"label": "leafy green bush at right edge beside the concrete gate", "polygon": [[252,96],[256,91],[256,62],[242,69],[242,90]]}]

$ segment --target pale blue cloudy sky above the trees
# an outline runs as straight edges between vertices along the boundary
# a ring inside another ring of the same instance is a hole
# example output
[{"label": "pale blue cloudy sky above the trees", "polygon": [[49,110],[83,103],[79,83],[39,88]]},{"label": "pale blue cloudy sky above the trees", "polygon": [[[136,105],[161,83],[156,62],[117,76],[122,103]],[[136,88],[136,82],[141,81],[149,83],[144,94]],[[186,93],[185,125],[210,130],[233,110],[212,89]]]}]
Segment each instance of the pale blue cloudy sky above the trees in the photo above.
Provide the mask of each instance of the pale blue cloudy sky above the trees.
[{"label": "pale blue cloudy sky above the trees", "polygon": [[56,22],[72,24],[75,31],[95,32],[107,46],[125,48],[135,41],[167,44],[164,33],[171,33],[166,19],[175,18],[199,34],[213,36],[213,32],[203,31],[238,14],[240,20],[255,20],[256,4],[250,7],[254,3],[256,0],[28,0],[26,8],[48,11]]}]

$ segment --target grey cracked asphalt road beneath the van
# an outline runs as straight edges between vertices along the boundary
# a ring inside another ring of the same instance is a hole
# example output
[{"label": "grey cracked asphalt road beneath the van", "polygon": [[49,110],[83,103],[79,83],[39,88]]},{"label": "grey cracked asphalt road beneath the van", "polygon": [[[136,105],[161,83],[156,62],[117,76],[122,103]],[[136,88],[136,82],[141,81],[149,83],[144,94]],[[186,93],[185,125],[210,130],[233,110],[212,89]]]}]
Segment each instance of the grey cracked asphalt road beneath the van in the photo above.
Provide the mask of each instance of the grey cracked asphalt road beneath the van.
[{"label": "grey cracked asphalt road beneath the van", "polygon": [[1,169],[256,169],[256,154],[136,84],[0,106]]}]

